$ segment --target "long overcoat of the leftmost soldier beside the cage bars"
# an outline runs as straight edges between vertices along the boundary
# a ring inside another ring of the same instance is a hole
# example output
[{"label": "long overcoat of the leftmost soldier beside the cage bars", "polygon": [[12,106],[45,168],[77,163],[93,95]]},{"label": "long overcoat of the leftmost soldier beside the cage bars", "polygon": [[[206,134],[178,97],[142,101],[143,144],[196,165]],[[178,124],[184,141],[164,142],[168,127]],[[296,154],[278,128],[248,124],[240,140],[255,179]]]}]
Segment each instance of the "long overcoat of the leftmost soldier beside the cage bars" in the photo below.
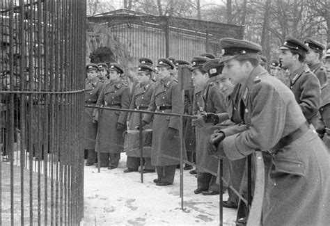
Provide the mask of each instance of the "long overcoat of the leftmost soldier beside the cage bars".
[{"label": "long overcoat of the leftmost soldier beside the cage bars", "polygon": [[[95,106],[97,98],[100,95],[103,82],[98,78],[93,80],[86,79],[85,83],[85,105]],[[84,111],[84,149],[94,150],[95,140],[97,135],[97,123],[93,122],[93,111],[94,108],[85,108]]]}]

